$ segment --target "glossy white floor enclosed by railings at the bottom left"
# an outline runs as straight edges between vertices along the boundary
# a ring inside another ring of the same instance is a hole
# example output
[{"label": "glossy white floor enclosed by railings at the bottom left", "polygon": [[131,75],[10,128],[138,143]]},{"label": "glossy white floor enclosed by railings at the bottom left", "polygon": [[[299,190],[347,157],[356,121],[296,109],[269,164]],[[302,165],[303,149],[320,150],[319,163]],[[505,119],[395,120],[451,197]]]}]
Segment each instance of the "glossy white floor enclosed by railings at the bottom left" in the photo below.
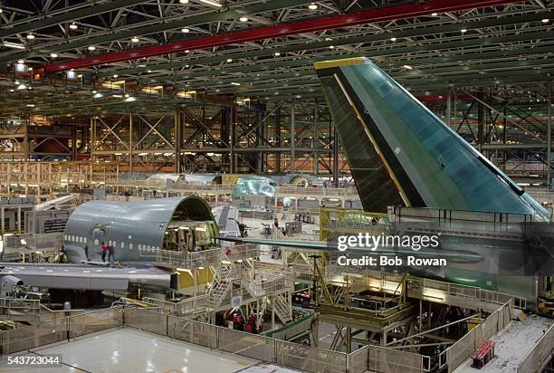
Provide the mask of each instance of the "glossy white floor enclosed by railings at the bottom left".
[{"label": "glossy white floor enclosed by railings at the bottom left", "polygon": [[8,367],[4,359],[0,361],[0,372],[232,373],[259,362],[127,328],[108,330],[34,351],[39,354],[62,354],[64,366],[22,370]]}]

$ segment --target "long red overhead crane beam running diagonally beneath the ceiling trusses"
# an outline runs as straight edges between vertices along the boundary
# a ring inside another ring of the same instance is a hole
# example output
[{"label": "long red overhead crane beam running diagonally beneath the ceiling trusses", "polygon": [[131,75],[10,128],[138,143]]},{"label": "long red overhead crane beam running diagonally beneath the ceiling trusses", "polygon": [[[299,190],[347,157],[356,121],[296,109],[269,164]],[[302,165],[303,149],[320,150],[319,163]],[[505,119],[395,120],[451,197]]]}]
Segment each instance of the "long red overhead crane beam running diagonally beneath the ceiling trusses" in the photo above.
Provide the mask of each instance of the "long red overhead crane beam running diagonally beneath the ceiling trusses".
[{"label": "long red overhead crane beam running diagonally beneath the ceiling trusses", "polygon": [[192,51],[228,44],[253,42],[256,40],[271,39],[298,33],[312,33],[315,31],[337,29],[356,24],[370,24],[374,22],[429,15],[431,13],[454,12],[484,6],[521,2],[522,0],[428,0],[412,4],[378,7],[352,14],[331,15],[306,21],[235,31],[232,33],[219,33],[213,36],[186,39],[177,43],[152,45],[144,48],[131,49],[129,51],[86,57],[80,60],[57,62],[43,66],[42,71],[62,72],[70,69],[97,66],[104,63],[138,60],[144,57],[181,53],[187,50]]}]

